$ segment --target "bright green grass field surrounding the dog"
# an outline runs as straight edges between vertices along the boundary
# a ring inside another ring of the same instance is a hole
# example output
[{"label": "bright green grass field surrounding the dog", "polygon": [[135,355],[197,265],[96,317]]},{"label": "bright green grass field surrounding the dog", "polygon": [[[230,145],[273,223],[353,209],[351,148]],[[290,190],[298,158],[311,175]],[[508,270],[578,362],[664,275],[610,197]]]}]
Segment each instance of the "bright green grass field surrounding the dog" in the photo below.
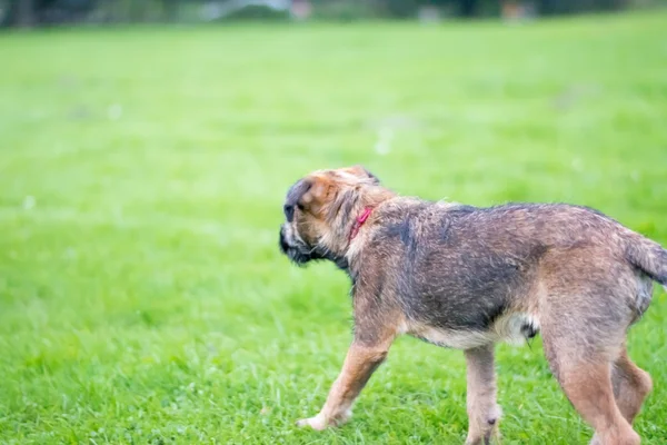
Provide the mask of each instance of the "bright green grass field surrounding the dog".
[{"label": "bright green grass field surrounding the dog", "polygon": [[[350,424],[293,427],[350,301],[332,265],[279,255],[285,192],[360,162],[405,195],[589,205],[665,244],[665,22],[0,34],[0,443],[462,443],[462,354],[411,338]],[[646,444],[667,442],[666,326],[656,290],[629,339]],[[497,367],[506,444],[589,438],[539,340]]]}]

